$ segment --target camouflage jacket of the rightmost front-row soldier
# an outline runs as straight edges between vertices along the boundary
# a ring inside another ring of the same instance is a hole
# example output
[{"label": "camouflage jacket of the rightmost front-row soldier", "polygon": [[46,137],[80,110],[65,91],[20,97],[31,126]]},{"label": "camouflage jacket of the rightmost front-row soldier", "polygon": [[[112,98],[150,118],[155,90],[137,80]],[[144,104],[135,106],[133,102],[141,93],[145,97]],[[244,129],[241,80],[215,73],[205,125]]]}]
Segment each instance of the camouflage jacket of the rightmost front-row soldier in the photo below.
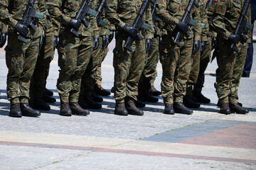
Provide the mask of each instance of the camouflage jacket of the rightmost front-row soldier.
[{"label": "camouflage jacket of the rightmost front-row soldier", "polygon": [[[231,33],[235,32],[240,13],[243,10],[244,0],[217,1],[216,9],[213,13],[212,24],[219,36],[228,40]],[[246,21],[251,22],[250,6],[246,14]],[[247,31],[250,40],[251,31]]]}]

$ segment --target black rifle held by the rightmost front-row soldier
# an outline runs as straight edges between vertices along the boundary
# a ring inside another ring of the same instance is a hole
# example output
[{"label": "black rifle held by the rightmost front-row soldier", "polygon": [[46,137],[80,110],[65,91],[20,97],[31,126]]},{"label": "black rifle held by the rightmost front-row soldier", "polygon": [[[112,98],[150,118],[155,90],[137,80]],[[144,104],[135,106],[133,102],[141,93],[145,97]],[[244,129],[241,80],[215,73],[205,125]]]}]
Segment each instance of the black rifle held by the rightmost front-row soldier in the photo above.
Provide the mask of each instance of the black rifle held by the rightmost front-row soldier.
[{"label": "black rifle held by the rightmost front-row soldier", "polygon": [[[252,28],[253,28],[252,24],[247,23],[245,21],[245,15],[247,13],[249,5],[250,5],[250,0],[245,0],[245,4],[243,6],[243,11],[240,14],[240,17],[238,19],[238,24],[236,25],[235,33],[234,33],[235,35],[238,35],[240,38],[242,38],[243,42],[245,42],[248,39],[247,36],[245,36],[245,34],[244,34],[245,28],[247,28],[249,30],[252,30]],[[232,43],[232,45],[230,47],[235,52],[238,52],[238,47],[236,47],[235,43]]]}]

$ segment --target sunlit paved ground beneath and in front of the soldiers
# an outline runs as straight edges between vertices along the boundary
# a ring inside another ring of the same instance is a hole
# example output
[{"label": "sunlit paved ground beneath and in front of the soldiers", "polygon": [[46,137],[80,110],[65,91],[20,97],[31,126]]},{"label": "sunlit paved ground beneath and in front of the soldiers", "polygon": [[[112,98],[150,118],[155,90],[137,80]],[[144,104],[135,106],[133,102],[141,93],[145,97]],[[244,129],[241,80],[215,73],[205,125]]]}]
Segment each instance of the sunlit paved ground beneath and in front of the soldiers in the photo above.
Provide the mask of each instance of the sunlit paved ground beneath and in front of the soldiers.
[{"label": "sunlit paved ground beneath and in front of the soldiers", "polygon": [[[113,50],[111,44],[110,51]],[[256,49],[256,45],[255,45]],[[103,86],[113,85],[112,52],[103,64]],[[256,59],[255,59],[256,60]],[[160,102],[147,103],[142,117],[113,115],[113,94],[87,117],[58,115],[57,55],[48,89],[57,103],[40,118],[10,118],[6,64],[0,51],[0,169],[256,169],[256,66],[242,78],[240,99],[247,115],[221,115],[213,83],[216,61],[206,71],[203,93],[211,103],[193,115],[164,115]],[[160,89],[162,69],[155,86]]]}]

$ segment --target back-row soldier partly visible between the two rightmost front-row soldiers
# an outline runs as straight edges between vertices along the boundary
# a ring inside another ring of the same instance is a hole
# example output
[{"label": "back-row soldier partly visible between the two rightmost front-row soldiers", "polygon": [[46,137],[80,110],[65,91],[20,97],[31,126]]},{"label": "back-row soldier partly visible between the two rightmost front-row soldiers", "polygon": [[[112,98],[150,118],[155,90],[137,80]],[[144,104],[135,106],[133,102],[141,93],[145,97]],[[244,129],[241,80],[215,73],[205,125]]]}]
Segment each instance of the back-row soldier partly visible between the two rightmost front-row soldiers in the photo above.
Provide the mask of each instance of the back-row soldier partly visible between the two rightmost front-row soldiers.
[{"label": "back-row soldier partly visible between the two rightmost front-row soldiers", "polygon": [[[208,8],[213,8],[211,4],[209,7],[206,6],[209,0],[204,0],[204,8],[201,11],[204,11],[201,15],[201,25],[202,25],[202,34],[201,34],[201,57],[200,57],[200,67],[199,67],[199,75],[196,80],[196,84],[194,85],[193,95],[196,98],[196,101],[199,103],[210,103],[211,100],[206,98],[201,91],[204,87],[204,72],[206,71],[206,67],[211,60],[211,36],[209,23],[208,23]],[[210,0],[211,1],[211,0]]]}]

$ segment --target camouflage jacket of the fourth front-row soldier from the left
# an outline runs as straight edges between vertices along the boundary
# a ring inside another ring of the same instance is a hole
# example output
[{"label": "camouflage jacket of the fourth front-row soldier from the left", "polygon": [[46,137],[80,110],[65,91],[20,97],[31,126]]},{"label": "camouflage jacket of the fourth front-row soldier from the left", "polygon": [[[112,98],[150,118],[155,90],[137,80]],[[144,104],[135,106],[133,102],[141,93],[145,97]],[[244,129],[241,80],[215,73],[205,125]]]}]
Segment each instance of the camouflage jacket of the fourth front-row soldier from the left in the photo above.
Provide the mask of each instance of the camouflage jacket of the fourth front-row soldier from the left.
[{"label": "camouflage jacket of the fourth front-row soldier from the left", "polygon": [[[157,16],[159,16],[163,21],[165,21],[166,29],[168,34],[176,35],[177,24],[179,21],[182,21],[182,17],[186,11],[186,8],[189,4],[189,0],[159,0],[158,6],[159,10],[157,10]],[[194,18],[195,21],[198,22],[196,26],[189,26],[191,33],[189,38],[193,38],[194,40],[201,40],[201,18],[200,11],[198,8],[194,6],[191,11],[191,18]],[[193,34],[194,33],[194,34]]]}]

